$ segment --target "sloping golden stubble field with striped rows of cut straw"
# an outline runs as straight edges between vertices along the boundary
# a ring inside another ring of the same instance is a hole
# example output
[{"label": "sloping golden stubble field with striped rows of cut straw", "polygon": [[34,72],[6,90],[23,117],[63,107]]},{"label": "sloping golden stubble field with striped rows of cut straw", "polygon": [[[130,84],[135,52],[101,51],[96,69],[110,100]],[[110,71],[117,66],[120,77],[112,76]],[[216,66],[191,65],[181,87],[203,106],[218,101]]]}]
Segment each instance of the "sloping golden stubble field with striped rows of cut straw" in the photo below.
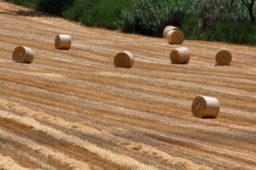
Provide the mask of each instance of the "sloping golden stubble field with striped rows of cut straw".
[{"label": "sloping golden stubble field with striped rows of cut straw", "polygon": [[[55,49],[58,34],[69,50]],[[17,46],[33,50],[31,64],[13,61]],[[177,47],[188,64],[171,63]],[[121,51],[132,67],[115,67]],[[218,99],[216,119],[193,116],[199,95]],[[255,170],[255,148],[255,46],[171,45],[0,1],[0,169]]]}]

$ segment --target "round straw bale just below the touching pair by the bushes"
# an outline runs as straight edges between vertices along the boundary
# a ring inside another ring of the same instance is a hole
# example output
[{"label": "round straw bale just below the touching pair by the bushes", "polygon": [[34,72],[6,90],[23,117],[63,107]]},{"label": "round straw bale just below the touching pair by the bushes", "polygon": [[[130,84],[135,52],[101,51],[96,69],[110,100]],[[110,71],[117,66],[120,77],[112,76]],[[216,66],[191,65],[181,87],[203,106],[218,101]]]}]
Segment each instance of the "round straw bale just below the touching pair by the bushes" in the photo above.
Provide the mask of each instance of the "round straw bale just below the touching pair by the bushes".
[{"label": "round straw bale just below the touching pair by the bushes", "polygon": [[190,53],[186,47],[173,49],[170,53],[170,59],[173,64],[186,64],[190,60]]}]

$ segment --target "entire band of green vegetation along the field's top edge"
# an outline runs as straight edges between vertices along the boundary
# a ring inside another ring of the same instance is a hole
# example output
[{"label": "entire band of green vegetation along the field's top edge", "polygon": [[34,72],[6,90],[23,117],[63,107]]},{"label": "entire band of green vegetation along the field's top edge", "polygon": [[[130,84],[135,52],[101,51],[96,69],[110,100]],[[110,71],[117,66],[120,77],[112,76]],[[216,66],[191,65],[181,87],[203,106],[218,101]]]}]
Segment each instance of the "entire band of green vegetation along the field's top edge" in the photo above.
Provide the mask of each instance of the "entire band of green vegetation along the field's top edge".
[{"label": "entire band of green vegetation along the field's top edge", "polygon": [[[256,45],[256,24],[234,0],[6,0],[86,26],[162,37],[165,26],[180,28],[187,40]],[[256,4],[254,5],[256,16]]]}]

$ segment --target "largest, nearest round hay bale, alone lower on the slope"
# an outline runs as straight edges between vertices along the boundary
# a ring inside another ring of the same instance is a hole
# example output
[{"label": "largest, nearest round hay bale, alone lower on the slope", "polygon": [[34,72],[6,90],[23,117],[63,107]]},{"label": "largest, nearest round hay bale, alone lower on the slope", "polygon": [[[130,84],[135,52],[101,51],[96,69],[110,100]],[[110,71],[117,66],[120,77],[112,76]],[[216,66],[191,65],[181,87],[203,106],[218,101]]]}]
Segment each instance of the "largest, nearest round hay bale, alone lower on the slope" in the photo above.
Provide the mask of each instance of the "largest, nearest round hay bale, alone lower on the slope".
[{"label": "largest, nearest round hay bale, alone lower on the slope", "polygon": [[192,103],[192,113],[195,117],[216,118],[219,110],[220,104],[214,97],[198,96]]}]

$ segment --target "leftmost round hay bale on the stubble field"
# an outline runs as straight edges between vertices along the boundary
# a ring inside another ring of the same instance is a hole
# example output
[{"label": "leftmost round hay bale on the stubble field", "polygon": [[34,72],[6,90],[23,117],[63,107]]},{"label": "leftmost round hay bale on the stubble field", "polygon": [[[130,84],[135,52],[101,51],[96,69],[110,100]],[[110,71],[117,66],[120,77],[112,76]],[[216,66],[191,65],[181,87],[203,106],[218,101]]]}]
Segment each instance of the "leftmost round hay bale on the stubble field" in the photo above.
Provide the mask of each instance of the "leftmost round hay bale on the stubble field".
[{"label": "leftmost round hay bale on the stubble field", "polygon": [[33,50],[25,46],[17,46],[12,52],[12,60],[20,63],[31,63],[34,60]]}]

